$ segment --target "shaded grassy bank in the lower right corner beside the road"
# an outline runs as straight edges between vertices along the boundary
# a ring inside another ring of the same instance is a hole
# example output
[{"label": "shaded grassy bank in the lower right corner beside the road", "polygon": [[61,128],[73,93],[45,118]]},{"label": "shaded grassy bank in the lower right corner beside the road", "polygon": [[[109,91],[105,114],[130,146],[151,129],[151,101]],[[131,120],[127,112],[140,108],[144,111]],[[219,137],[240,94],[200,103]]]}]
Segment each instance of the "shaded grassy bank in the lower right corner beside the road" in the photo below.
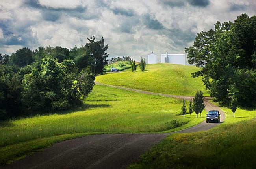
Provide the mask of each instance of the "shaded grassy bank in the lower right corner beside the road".
[{"label": "shaded grassy bank in the lower right corner beside the road", "polygon": [[[255,113],[255,112],[254,112]],[[129,169],[253,169],[256,166],[256,118],[210,131],[172,134]]]}]

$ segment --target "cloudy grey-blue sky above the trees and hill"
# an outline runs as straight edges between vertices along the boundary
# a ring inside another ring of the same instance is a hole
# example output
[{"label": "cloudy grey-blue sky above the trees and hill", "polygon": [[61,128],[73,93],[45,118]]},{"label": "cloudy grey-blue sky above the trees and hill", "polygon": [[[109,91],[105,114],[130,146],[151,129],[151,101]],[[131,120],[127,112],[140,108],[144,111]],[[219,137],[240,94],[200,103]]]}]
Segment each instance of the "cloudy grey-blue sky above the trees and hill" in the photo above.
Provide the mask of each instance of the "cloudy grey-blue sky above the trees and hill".
[{"label": "cloudy grey-blue sky above the trees and hill", "polygon": [[104,37],[110,57],[184,53],[216,21],[256,15],[255,0],[0,0],[0,53],[80,47]]}]

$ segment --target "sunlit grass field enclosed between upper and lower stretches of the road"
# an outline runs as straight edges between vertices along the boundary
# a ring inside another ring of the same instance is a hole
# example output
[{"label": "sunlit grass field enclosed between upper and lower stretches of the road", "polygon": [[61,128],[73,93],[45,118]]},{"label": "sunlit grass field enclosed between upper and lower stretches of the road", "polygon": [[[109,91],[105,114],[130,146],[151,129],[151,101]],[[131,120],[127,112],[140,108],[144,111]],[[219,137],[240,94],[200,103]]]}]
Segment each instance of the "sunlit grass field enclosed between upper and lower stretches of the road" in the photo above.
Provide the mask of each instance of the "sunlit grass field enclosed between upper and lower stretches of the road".
[{"label": "sunlit grass field enclosed between upper and lower stretches of the road", "polygon": [[76,111],[0,122],[0,164],[92,133],[175,131],[202,122],[206,114],[177,116],[182,100],[101,85],[95,85],[85,102]]}]

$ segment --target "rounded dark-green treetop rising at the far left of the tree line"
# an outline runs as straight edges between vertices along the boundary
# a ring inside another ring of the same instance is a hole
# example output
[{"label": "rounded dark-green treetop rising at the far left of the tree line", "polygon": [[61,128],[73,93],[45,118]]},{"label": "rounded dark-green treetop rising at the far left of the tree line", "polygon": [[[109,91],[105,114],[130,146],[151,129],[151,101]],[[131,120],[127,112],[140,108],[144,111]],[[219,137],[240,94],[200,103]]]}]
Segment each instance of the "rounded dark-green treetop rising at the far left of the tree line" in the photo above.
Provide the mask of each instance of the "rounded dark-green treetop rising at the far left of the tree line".
[{"label": "rounded dark-green treetop rising at the far left of the tree line", "polygon": [[29,48],[24,47],[13,53],[10,57],[10,62],[17,67],[24,67],[34,62],[32,52]]}]

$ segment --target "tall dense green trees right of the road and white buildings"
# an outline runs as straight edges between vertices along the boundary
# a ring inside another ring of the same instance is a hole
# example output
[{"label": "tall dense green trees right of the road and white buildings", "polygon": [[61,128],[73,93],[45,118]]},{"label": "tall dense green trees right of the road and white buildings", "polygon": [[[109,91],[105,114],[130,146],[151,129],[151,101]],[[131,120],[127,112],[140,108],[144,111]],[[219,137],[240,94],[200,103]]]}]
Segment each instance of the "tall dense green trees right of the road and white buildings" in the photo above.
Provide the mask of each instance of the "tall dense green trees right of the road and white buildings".
[{"label": "tall dense green trees right of the road and white buildings", "polygon": [[214,30],[198,33],[185,51],[190,64],[202,67],[193,76],[203,77],[217,101],[228,105],[235,93],[239,105],[256,107],[256,16],[217,22]]}]

